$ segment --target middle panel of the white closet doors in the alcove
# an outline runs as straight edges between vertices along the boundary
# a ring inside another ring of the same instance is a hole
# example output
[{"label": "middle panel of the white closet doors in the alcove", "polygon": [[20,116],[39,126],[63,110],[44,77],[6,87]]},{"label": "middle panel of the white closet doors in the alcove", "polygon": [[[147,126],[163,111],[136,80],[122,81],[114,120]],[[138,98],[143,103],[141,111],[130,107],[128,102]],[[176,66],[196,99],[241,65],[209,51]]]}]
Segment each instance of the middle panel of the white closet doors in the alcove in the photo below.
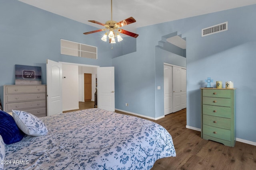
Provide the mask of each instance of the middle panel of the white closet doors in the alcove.
[{"label": "middle panel of the white closet doors in the alcove", "polygon": [[180,78],[181,78],[181,68],[172,67],[173,71],[173,112],[181,110],[181,86],[180,86]]}]

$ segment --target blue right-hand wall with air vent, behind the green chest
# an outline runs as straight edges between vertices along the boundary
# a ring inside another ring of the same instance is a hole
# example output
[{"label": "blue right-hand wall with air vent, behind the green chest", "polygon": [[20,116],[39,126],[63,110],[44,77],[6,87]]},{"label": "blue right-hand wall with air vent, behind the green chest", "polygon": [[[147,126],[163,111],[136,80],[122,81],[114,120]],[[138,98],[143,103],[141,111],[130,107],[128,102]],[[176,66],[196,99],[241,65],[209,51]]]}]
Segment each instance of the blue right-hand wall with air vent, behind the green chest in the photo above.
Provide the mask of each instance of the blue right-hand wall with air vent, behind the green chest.
[{"label": "blue right-hand wall with air vent, behind the green chest", "polygon": [[[187,125],[201,128],[204,80],[210,76],[212,85],[232,80],[237,88],[236,137],[256,142],[256,18],[250,16],[256,16],[256,5],[138,28],[137,51],[113,59],[118,72],[116,108],[149,117],[164,115],[164,93],[157,90],[163,86],[164,61],[157,46],[162,36],[178,31],[187,43]],[[201,36],[203,28],[225,21],[228,31]]]}]

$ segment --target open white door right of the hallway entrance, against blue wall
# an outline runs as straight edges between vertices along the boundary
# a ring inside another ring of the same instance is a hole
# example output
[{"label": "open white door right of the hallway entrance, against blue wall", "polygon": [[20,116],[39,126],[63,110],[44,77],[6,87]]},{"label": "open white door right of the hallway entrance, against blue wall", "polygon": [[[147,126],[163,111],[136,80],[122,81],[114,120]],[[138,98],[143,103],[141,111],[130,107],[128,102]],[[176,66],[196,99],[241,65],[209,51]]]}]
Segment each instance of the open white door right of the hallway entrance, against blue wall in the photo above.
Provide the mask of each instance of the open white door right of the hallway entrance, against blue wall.
[{"label": "open white door right of the hallway entrance, against blue wall", "polygon": [[98,67],[98,108],[115,111],[114,67]]}]

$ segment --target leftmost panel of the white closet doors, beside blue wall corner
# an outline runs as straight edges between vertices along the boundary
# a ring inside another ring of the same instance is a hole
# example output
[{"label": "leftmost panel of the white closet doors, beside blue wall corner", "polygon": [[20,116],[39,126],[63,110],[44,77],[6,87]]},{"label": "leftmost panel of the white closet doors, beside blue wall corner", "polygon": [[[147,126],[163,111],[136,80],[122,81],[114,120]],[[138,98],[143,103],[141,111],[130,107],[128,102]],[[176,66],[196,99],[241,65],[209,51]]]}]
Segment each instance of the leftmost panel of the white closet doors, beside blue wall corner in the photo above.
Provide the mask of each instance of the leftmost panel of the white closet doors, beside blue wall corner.
[{"label": "leftmost panel of the white closet doors, beside blue wall corner", "polygon": [[172,66],[164,64],[164,115],[172,113]]}]

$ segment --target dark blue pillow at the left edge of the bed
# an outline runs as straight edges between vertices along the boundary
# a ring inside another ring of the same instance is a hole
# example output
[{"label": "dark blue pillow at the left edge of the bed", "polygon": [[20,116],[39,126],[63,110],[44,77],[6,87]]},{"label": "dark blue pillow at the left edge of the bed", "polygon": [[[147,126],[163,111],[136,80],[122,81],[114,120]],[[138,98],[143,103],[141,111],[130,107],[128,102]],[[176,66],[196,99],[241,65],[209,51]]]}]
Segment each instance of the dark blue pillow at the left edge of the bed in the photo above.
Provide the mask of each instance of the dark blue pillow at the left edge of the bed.
[{"label": "dark blue pillow at the left edge of the bed", "polygon": [[20,141],[25,135],[18,128],[13,117],[2,110],[0,110],[0,135],[7,145]]}]

